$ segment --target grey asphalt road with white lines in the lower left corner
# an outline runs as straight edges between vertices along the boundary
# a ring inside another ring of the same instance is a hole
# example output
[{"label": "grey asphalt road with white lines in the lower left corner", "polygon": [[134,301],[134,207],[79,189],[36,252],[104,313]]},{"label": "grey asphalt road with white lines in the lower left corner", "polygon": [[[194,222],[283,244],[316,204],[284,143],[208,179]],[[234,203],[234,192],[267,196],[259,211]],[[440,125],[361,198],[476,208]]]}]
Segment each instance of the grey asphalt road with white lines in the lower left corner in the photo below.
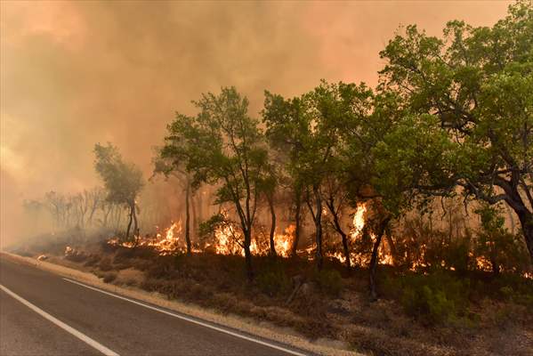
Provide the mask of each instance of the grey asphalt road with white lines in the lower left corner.
[{"label": "grey asphalt road with white lines in the lower left corner", "polygon": [[0,258],[0,355],[3,356],[303,353],[193,319],[207,326],[198,325],[175,317],[183,316],[177,312],[157,309]]}]

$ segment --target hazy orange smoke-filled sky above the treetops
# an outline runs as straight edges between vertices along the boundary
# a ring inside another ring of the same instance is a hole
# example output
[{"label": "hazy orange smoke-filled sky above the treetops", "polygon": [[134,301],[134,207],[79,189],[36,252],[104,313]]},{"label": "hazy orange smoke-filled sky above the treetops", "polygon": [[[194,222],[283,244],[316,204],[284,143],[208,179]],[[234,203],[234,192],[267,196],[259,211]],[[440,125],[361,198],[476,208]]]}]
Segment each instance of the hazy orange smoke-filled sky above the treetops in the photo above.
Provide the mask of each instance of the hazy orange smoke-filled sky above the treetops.
[{"label": "hazy orange smoke-filled sky above the treetops", "polygon": [[379,51],[400,25],[440,35],[448,20],[489,26],[509,2],[0,2],[1,236],[14,239],[25,198],[98,184],[95,142],[150,172],[174,111],[235,85],[320,78],[376,84]]}]

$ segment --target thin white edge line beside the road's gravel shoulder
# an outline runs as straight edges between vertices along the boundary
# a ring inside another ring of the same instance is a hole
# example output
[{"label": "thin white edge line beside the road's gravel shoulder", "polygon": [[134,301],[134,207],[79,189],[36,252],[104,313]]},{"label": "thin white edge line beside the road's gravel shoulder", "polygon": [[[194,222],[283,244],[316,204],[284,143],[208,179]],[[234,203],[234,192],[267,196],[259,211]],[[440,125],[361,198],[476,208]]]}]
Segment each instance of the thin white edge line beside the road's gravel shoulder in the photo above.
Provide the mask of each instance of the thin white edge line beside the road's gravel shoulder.
[{"label": "thin white edge line beside the road's gravel shoulder", "polygon": [[210,324],[207,324],[205,322],[202,322],[202,321],[199,321],[199,320],[194,320],[192,318],[189,318],[189,317],[186,317],[184,315],[180,315],[180,314],[176,314],[174,312],[168,312],[164,309],[161,309],[161,308],[157,308],[155,306],[151,306],[149,304],[145,304],[145,303],[141,303],[141,302],[137,302],[136,300],[133,300],[133,299],[130,299],[130,298],[126,298],[125,296],[122,296],[122,295],[116,295],[114,293],[109,293],[105,290],[102,290],[100,288],[97,288],[97,287],[91,287],[91,286],[87,286],[83,283],[80,283],[80,282],[77,282],[76,280],[72,280],[72,279],[66,279],[66,278],[63,278],[65,279],[66,281],[70,282],[70,283],[74,283],[74,284],[77,284],[78,286],[81,286],[81,287],[85,287],[85,288],[89,288],[89,289],[93,289],[97,292],[100,292],[100,293],[103,293],[104,295],[110,295],[110,296],[114,296],[115,298],[118,298],[118,299],[122,299],[122,300],[125,300],[127,302],[130,302],[130,303],[133,303],[133,304],[137,304],[137,305],[141,305],[145,308],[148,308],[148,309],[151,309],[152,311],[156,311],[156,312],[162,312],[166,315],[170,315],[170,316],[173,316],[174,318],[178,318],[178,319],[181,319],[181,320],[186,320],[186,321],[189,321],[191,323],[194,323],[194,324],[198,324],[198,325],[201,325],[202,327],[206,327],[206,328],[212,328],[216,331],[220,331],[221,333],[224,333],[224,334],[228,334],[230,336],[236,336],[236,337],[239,337],[241,339],[245,339],[247,341],[251,341],[253,343],[256,343],[256,344],[262,344],[264,346],[268,346],[268,347],[271,347],[272,349],[277,349],[279,351],[282,351],[282,352],[287,352],[287,353],[290,353],[290,354],[293,354],[293,355],[296,355],[296,356],[306,356],[305,353],[302,353],[302,352],[296,352],[296,351],[293,351],[293,350],[290,350],[290,349],[287,349],[283,346],[279,346],[277,344],[271,344],[269,342],[266,342],[266,341],[262,341],[262,340],[259,340],[259,339],[256,339],[254,337],[250,337],[250,336],[246,336],[246,335],[241,335],[241,334],[238,334],[236,332],[233,332],[233,331],[230,331],[230,330],[227,330],[225,328],[219,328],[219,327],[216,327],[214,325],[210,325]]}]

